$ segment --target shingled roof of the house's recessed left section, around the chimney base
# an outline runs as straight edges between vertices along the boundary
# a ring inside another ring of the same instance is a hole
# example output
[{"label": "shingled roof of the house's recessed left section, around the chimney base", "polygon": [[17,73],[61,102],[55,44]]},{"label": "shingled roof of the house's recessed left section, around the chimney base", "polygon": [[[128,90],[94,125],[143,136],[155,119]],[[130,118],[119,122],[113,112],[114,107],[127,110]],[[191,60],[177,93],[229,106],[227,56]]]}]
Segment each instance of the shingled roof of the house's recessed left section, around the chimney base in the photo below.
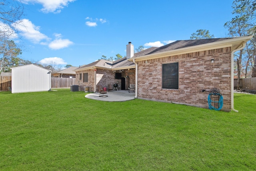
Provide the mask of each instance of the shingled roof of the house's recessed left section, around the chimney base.
[{"label": "shingled roof of the house's recessed left section, around the chimney base", "polygon": [[[140,52],[135,53],[134,57],[140,56],[143,54],[147,54],[155,49],[156,49],[156,47],[151,47],[151,48],[142,50]],[[127,58],[125,58],[125,57],[118,59],[116,61],[97,60],[88,65],[80,66],[80,67],[76,68],[74,71],[88,70],[88,69],[92,69],[92,68],[100,68],[100,69],[105,69],[105,70],[107,70],[107,69],[109,69],[109,70],[124,70],[124,69],[129,69],[129,68],[135,68],[135,64],[133,62],[128,61]]]}]

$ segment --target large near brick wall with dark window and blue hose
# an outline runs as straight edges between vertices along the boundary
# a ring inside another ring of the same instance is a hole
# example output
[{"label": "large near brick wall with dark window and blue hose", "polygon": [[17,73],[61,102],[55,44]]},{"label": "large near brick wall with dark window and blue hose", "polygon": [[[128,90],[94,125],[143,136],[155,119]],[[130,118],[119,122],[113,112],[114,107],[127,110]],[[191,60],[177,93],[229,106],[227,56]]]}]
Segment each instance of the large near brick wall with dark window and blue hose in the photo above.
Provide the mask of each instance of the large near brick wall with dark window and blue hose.
[{"label": "large near brick wall with dark window and blue hose", "polygon": [[[212,64],[211,59],[215,62]],[[162,64],[179,63],[179,89],[162,89]],[[138,98],[208,108],[208,93],[220,89],[222,109],[231,109],[231,48],[138,62]]]}]

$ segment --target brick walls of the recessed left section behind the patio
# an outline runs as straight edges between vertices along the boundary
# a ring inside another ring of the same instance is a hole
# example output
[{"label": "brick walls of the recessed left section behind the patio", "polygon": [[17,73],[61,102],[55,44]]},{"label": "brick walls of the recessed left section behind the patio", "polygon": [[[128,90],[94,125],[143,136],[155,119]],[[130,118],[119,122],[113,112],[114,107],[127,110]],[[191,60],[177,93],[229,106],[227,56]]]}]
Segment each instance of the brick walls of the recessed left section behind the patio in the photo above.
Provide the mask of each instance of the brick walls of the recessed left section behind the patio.
[{"label": "brick walls of the recessed left section behind the patio", "polygon": [[[116,70],[116,72],[120,72],[119,70]],[[82,80],[79,80],[80,73],[82,73]],[[88,73],[88,82],[83,82],[83,73]],[[120,72],[122,74],[122,77],[129,76],[130,78],[130,84],[135,84],[135,70],[122,70]],[[76,72],[78,74],[76,76],[76,84],[79,85],[79,90],[84,91],[84,87],[90,87],[90,91],[94,91],[94,70],[82,70]],[[120,87],[118,89],[121,89],[121,80],[115,79],[115,72],[111,70],[103,70],[103,69],[96,69],[96,91],[98,91],[98,85],[101,85],[103,87],[107,87],[111,84],[112,88],[114,84],[118,84]]]}]

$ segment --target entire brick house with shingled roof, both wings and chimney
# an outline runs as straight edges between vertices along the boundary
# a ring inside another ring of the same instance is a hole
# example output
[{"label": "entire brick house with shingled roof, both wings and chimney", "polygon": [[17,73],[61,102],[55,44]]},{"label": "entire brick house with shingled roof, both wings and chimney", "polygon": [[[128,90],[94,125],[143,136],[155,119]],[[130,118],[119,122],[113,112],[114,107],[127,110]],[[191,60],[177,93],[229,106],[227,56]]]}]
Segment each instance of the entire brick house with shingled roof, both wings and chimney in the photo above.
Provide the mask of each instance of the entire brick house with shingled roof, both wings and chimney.
[{"label": "entire brick house with shingled roof, both wings and chimney", "polygon": [[218,88],[224,98],[222,110],[236,111],[234,52],[243,49],[251,38],[178,40],[136,54],[129,42],[126,58],[114,62],[98,60],[77,68],[76,82],[81,90],[90,86],[90,91],[96,92],[98,84],[120,84],[120,80],[115,79],[118,72],[136,85],[135,98],[202,108],[208,108],[209,93],[202,90]]}]

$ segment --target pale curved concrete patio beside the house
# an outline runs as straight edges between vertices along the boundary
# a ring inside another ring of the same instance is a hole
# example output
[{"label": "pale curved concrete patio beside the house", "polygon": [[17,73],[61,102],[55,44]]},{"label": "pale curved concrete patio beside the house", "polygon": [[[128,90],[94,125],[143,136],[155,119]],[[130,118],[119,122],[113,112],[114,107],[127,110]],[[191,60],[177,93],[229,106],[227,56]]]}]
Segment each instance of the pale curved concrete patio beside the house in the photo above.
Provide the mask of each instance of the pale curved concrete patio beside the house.
[{"label": "pale curved concrete patio beside the house", "polygon": [[108,97],[99,97],[100,93],[90,93],[86,94],[85,97],[88,99],[101,100],[101,101],[128,101],[133,100],[135,97],[135,93],[128,90],[118,90],[118,91],[110,91],[108,92]]}]

